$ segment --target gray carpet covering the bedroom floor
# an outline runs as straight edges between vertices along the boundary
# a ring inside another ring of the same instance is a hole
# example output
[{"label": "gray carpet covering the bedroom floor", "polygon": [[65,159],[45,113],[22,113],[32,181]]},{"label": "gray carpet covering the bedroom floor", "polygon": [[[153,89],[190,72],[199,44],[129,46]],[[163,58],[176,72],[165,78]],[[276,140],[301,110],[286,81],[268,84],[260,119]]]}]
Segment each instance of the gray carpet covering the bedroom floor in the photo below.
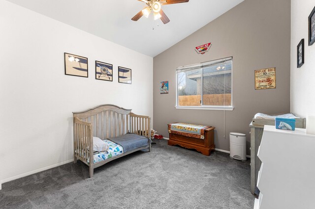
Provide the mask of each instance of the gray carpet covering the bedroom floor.
[{"label": "gray carpet covering the bedroom floor", "polygon": [[14,209],[252,209],[250,160],[204,156],[154,140],[95,169],[78,161],[2,184],[0,208]]}]

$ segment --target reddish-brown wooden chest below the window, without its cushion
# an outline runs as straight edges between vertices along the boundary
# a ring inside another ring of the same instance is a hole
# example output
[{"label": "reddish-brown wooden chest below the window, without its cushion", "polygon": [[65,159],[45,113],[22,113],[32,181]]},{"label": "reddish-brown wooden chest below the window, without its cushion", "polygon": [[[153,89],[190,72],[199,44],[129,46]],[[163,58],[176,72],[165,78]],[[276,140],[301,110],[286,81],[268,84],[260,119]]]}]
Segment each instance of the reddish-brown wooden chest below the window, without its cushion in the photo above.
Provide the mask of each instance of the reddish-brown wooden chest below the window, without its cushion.
[{"label": "reddish-brown wooden chest below the window, without its cushion", "polygon": [[195,149],[203,155],[210,156],[211,151],[215,150],[214,129],[215,127],[206,129],[204,139],[169,133],[169,140],[167,144],[179,145],[188,149]]}]

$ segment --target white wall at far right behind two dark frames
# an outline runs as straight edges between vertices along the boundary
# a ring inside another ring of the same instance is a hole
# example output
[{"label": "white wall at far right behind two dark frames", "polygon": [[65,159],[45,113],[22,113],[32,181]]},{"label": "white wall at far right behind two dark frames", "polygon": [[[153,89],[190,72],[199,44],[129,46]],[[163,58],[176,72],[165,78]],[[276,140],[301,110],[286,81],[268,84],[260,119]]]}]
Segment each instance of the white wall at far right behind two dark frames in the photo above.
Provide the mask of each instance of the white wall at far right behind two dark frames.
[{"label": "white wall at far right behind two dark frames", "polygon": [[[315,115],[315,44],[308,46],[308,17],[315,0],[291,0],[290,111]],[[296,67],[296,47],[304,38],[304,65]]]}]

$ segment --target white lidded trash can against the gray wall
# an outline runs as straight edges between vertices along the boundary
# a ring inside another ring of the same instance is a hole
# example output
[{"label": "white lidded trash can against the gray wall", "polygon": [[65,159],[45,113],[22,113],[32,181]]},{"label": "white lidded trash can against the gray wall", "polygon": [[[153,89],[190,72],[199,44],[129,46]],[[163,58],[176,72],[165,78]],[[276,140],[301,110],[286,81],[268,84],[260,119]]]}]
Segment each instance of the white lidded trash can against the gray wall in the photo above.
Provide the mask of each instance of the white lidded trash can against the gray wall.
[{"label": "white lidded trash can against the gray wall", "polygon": [[230,157],[246,161],[246,134],[230,133]]}]

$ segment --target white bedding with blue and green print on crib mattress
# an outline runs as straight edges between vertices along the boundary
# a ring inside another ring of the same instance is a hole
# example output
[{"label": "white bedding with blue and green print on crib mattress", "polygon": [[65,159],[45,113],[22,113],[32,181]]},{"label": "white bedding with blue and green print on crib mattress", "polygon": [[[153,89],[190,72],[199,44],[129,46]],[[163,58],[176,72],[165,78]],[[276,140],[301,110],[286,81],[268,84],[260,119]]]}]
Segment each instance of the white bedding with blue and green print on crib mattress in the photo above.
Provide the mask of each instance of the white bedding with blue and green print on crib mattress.
[{"label": "white bedding with blue and green print on crib mattress", "polygon": [[[108,151],[95,152],[93,155],[94,163],[103,161],[105,159],[109,159],[111,157],[119,156],[120,154],[124,153],[124,148],[119,144],[112,142],[108,139],[105,139],[103,141],[108,144],[109,146]],[[88,162],[90,162],[90,158],[88,158]]]}]

